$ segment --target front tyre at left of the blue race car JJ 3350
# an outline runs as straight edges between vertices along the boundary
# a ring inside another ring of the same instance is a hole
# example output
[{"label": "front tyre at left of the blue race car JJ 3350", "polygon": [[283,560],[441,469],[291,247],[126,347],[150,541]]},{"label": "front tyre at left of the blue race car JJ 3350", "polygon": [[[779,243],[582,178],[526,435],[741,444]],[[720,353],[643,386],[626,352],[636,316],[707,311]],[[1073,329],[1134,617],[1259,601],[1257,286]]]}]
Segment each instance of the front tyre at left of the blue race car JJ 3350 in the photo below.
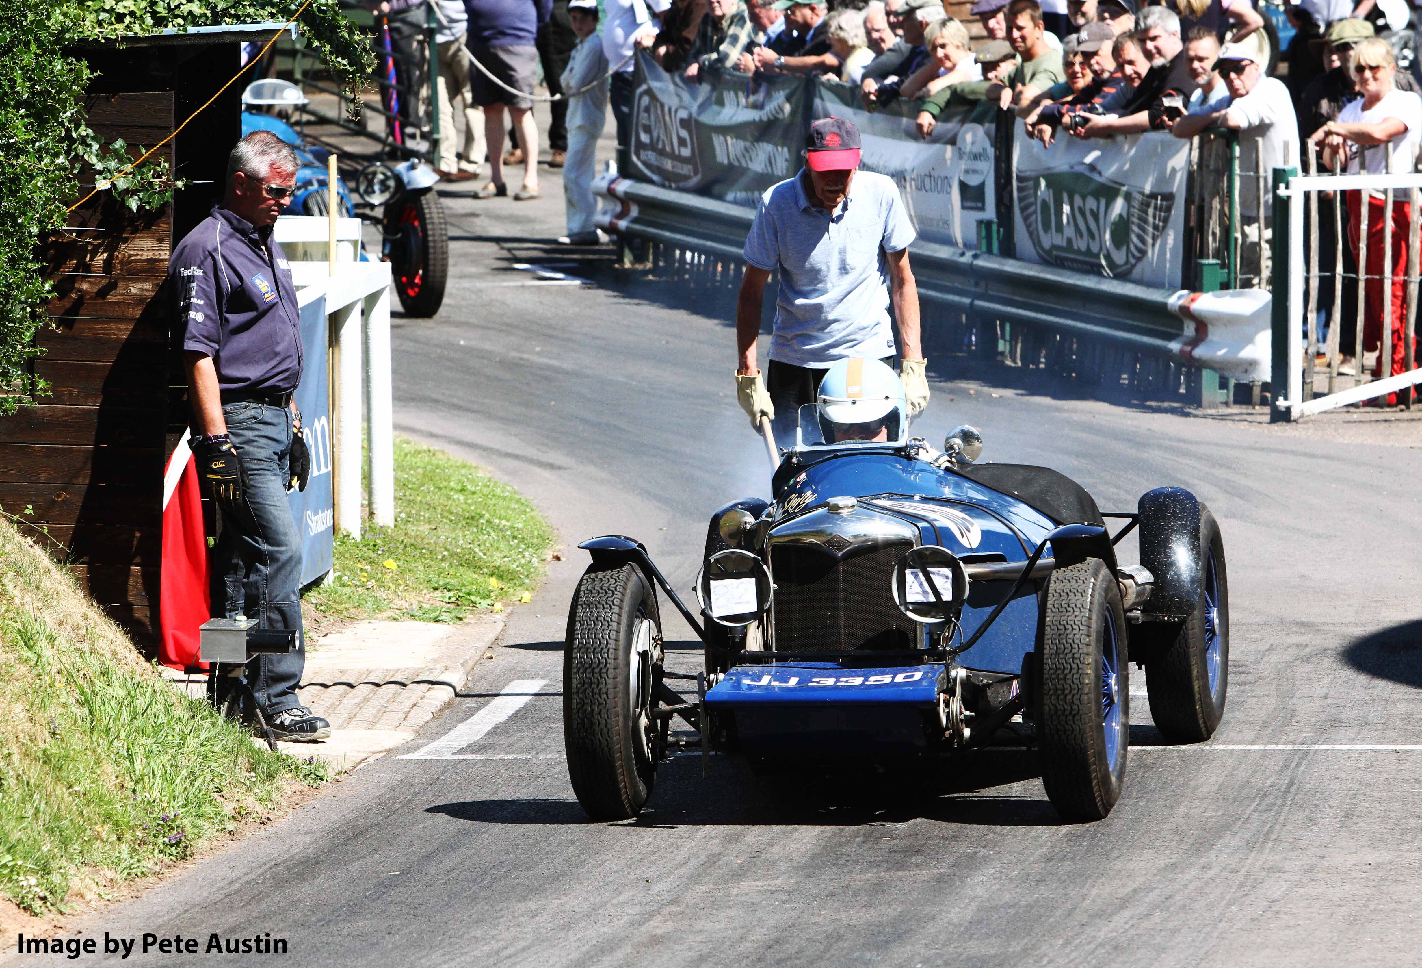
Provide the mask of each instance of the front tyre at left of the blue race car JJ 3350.
[{"label": "front tyre at left of the blue race car JJ 3350", "polygon": [[638,658],[641,622],[660,643],[656,592],[636,567],[594,564],[583,574],[563,651],[563,745],[573,793],[593,820],[636,817],[656,780],[647,713],[660,665]]}]

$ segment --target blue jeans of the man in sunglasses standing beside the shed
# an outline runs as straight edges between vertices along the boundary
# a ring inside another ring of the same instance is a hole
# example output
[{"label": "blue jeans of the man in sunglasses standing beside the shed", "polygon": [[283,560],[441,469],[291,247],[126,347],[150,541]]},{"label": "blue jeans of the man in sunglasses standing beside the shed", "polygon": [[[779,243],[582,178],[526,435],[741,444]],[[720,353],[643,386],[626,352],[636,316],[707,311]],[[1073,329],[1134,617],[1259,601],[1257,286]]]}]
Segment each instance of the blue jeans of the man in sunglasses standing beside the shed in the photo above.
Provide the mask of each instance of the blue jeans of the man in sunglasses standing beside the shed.
[{"label": "blue jeans of the man in sunglasses standing beside the shed", "polygon": [[292,518],[286,484],[292,411],[255,400],[222,407],[228,436],[247,470],[243,508],[222,514],[212,552],[215,616],[256,618],[264,629],[296,629],[296,652],[259,655],[247,663],[247,685],[263,713],[299,706],[296,686],[306,668],[301,631],[301,534]]}]

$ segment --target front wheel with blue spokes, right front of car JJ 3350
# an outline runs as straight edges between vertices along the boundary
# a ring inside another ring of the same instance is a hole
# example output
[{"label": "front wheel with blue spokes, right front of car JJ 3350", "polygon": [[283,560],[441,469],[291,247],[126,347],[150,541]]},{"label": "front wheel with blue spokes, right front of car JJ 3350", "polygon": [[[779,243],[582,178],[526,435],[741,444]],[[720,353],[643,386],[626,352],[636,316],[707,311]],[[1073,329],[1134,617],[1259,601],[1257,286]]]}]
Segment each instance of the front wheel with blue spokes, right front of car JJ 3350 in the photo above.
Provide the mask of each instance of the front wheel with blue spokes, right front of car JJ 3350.
[{"label": "front wheel with blue spokes, right front of car JJ 3350", "polygon": [[[1052,572],[1034,712],[1047,799],[1068,820],[1103,820],[1121,799],[1130,732],[1125,632],[1121,589],[1103,561],[1088,558]],[[1119,706],[1116,719],[1103,712],[1106,695]]]}]

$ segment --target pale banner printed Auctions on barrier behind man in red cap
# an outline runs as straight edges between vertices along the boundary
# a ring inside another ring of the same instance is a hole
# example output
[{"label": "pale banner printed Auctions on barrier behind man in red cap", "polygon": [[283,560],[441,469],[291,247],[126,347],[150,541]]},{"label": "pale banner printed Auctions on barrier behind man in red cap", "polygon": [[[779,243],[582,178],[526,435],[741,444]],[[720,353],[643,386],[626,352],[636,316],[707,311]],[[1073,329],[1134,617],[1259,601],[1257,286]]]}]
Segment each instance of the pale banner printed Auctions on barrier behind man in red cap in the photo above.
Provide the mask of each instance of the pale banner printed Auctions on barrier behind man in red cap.
[{"label": "pale banner printed Auctions on barrier behind man in red cap", "polygon": [[863,140],[860,167],[889,175],[903,192],[920,238],[977,248],[977,223],[997,218],[993,191],[994,111],[946,110],[927,140],[914,125],[919,101],[894,101],[873,114],[840,81],[813,81],[813,117],[853,121]]}]

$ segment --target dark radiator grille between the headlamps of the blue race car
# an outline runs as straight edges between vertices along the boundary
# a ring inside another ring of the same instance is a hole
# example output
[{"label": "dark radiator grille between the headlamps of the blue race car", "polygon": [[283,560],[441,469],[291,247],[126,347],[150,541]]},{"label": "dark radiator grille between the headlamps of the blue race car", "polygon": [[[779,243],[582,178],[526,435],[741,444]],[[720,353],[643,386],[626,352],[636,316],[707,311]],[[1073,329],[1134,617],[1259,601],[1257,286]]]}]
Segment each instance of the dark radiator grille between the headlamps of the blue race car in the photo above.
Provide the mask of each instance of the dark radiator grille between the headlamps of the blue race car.
[{"label": "dark radiator grille between the headlamps of the blue race car", "polygon": [[893,565],[910,541],[872,542],[836,557],[811,541],[771,545],[775,651],[916,648],[917,625],[894,605]]}]

